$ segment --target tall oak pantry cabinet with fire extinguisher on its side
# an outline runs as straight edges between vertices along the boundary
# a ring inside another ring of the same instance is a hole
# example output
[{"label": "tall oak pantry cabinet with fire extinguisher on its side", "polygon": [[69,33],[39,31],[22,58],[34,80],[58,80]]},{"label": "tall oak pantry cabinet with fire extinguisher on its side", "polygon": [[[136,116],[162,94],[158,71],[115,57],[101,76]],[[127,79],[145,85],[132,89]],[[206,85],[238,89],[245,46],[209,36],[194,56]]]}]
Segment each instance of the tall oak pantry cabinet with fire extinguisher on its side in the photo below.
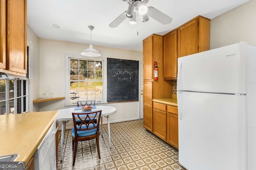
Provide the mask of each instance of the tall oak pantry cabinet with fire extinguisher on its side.
[{"label": "tall oak pantry cabinet with fire extinguisher on its side", "polygon": [[[158,80],[154,80],[154,62]],[[172,82],[164,80],[163,37],[152,34],[143,40],[143,114],[144,128],[153,132],[153,99],[171,98]]]}]

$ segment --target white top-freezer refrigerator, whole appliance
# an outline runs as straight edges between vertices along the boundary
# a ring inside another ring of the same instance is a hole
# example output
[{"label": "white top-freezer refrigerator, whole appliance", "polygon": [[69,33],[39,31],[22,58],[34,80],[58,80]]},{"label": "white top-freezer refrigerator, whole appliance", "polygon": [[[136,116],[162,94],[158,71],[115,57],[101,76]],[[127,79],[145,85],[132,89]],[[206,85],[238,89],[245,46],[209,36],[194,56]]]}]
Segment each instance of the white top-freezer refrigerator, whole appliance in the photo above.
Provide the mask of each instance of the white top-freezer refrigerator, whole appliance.
[{"label": "white top-freezer refrigerator, whole appliance", "polygon": [[256,170],[256,47],[178,59],[179,162],[188,170]]}]

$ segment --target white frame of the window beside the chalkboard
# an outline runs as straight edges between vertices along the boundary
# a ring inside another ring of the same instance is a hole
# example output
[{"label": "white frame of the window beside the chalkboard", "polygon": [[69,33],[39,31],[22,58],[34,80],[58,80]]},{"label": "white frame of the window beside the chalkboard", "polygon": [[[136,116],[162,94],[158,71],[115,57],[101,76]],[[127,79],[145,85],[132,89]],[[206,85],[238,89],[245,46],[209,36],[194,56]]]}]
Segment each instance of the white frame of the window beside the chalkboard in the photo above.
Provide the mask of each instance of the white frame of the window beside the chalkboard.
[{"label": "white frame of the window beside the chalkboard", "polygon": [[87,60],[101,60],[102,61],[102,82],[103,82],[103,96],[102,102],[96,102],[95,104],[107,103],[107,57],[85,57],[80,54],[65,54],[65,107],[72,107],[76,104],[70,103],[70,59],[87,59]]}]

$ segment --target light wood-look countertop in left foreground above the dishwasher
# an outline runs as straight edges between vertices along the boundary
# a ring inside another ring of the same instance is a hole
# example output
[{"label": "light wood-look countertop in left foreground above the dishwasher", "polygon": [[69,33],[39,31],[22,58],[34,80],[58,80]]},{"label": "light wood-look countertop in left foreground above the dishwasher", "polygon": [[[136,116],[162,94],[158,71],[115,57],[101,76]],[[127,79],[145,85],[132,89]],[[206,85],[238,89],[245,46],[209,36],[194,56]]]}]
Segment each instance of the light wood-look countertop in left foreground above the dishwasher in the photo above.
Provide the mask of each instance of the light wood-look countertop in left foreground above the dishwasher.
[{"label": "light wood-look countertop in left foreground above the dishwasher", "polygon": [[18,154],[14,161],[29,162],[59,111],[0,115],[0,156]]}]

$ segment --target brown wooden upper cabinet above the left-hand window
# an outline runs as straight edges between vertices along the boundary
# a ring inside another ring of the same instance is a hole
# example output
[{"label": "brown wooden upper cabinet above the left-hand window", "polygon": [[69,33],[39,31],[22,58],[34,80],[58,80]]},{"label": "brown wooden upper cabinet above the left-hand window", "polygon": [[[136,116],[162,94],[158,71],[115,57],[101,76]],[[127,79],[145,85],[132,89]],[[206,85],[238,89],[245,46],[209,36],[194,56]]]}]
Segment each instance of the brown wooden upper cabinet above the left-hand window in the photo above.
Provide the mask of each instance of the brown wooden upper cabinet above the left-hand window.
[{"label": "brown wooden upper cabinet above the left-hand window", "polygon": [[27,2],[1,1],[0,71],[26,76]]}]

